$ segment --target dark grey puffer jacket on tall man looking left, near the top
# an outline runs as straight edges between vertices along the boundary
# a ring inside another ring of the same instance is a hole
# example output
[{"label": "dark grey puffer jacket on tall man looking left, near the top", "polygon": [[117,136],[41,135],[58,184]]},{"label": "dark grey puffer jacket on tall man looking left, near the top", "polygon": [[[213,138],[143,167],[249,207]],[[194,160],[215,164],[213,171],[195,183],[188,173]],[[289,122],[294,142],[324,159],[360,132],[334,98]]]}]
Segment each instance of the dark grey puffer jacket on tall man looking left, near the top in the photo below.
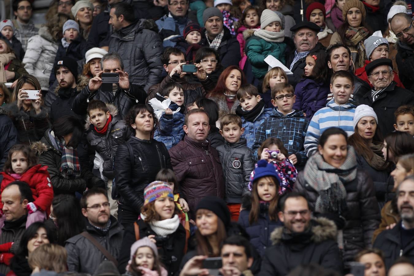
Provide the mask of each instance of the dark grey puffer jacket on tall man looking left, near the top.
[{"label": "dark grey puffer jacket on tall man looking left, near the top", "polygon": [[117,32],[109,42],[109,53],[118,53],[124,62],[130,82],[149,87],[161,82],[162,41],[154,21],[139,19]]}]

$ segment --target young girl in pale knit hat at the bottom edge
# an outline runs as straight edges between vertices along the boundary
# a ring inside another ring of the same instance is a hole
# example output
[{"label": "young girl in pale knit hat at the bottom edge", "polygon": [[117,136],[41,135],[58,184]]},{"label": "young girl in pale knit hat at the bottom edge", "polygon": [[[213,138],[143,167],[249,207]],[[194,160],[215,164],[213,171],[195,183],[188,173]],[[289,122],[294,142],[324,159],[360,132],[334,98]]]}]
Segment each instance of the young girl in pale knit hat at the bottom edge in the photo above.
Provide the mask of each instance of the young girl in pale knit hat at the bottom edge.
[{"label": "young girl in pale knit hat at the bottom edge", "polygon": [[148,237],[137,240],[131,245],[131,254],[125,275],[128,276],[167,276],[166,269],[158,257],[154,242]]}]

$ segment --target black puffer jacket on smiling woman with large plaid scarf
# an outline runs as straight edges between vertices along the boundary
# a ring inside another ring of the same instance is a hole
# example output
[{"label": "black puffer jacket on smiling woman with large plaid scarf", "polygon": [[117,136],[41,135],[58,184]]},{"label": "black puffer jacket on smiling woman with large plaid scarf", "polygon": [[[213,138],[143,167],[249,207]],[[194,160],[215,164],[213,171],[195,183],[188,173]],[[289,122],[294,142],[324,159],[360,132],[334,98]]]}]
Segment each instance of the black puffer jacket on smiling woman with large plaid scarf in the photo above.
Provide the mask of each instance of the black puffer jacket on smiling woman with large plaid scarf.
[{"label": "black puffer jacket on smiling woman with large plaid scarf", "polygon": [[[344,261],[354,259],[355,254],[364,248],[371,247],[372,235],[380,223],[380,209],[375,197],[375,188],[371,178],[363,171],[356,173],[356,178],[344,183],[347,191],[347,214],[344,214],[346,224],[344,233]],[[316,192],[307,180],[303,172],[296,178],[294,191],[307,195],[310,209],[315,209],[318,192]]]}]

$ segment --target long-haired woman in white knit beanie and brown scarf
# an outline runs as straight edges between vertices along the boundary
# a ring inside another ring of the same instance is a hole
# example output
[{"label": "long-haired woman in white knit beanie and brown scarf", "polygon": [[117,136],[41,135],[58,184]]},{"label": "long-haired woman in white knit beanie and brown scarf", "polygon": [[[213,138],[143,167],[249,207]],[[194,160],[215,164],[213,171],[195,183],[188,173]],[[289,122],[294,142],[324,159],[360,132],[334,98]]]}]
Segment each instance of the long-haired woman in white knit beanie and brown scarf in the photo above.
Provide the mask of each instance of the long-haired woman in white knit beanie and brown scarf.
[{"label": "long-haired woman in white knit beanie and brown scarf", "polygon": [[356,151],[356,160],[361,169],[365,170],[374,182],[375,194],[382,208],[390,176],[389,163],[385,163],[383,139],[378,129],[378,118],[372,107],[360,105],[354,115],[354,134],[348,138],[348,144]]}]

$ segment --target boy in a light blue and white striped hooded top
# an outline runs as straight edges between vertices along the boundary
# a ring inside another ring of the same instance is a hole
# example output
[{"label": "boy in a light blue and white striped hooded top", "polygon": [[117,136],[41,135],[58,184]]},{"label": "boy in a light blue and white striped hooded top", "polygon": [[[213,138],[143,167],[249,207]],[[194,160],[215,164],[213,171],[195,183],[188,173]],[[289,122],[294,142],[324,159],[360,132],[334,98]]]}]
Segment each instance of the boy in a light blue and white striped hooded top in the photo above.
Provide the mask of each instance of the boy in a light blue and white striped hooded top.
[{"label": "boy in a light blue and white striped hooded top", "polygon": [[354,76],[344,70],[335,72],[331,77],[330,90],[334,98],[326,107],[316,111],[306,132],[304,146],[308,157],[318,149],[319,137],[328,128],[340,127],[348,137],[354,133],[356,102],[349,100],[354,91]]}]

